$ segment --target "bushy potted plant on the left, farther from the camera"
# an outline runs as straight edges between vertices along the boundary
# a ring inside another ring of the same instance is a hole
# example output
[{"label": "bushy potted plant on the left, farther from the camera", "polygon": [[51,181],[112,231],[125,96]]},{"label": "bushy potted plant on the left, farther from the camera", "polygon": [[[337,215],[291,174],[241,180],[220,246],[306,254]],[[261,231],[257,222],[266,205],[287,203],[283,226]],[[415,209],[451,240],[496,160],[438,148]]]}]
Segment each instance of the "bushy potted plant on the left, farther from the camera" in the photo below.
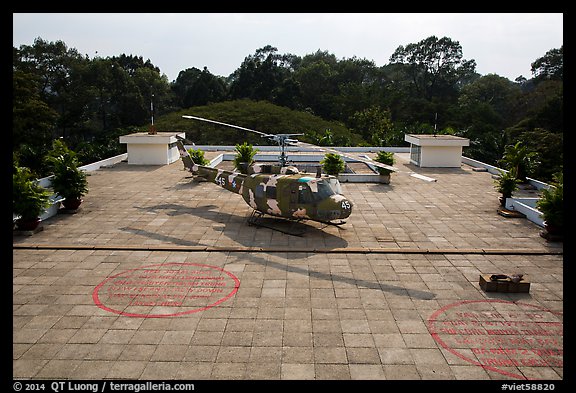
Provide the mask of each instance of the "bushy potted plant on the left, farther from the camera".
[{"label": "bushy potted plant on the left, farther from the camera", "polygon": [[55,140],[46,161],[54,174],[52,188],[64,198],[64,209],[78,209],[82,197],[88,192],[88,180],[86,173],[78,167],[76,154],[68,149],[64,142]]}]

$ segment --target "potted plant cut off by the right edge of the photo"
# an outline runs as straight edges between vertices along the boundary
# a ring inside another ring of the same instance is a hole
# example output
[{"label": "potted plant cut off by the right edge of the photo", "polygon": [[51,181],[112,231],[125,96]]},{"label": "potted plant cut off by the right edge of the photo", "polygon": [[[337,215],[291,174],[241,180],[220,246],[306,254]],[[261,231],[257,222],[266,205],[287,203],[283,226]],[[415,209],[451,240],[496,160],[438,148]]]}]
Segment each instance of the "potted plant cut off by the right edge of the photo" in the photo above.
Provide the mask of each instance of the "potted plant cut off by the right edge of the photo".
[{"label": "potted plant cut off by the right edge of the photo", "polygon": [[536,208],[542,213],[545,238],[561,238],[564,234],[564,175],[554,175],[552,187],[543,189]]}]

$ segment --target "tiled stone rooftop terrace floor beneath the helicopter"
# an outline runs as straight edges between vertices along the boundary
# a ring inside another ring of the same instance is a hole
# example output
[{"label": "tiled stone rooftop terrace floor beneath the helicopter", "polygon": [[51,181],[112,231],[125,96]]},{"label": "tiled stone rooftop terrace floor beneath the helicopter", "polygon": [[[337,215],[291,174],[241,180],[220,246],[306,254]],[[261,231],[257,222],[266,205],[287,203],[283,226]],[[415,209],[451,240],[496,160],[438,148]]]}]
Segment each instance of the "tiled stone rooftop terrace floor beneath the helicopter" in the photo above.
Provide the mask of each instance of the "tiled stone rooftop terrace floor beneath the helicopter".
[{"label": "tiled stone rooftop terrace floor beneath the helicopter", "polygon": [[13,238],[13,377],[562,379],[562,243],[498,215],[489,173],[397,159],[437,182],[343,183],[348,222],[302,237],[179,161],[91,172],[78,213]]}]

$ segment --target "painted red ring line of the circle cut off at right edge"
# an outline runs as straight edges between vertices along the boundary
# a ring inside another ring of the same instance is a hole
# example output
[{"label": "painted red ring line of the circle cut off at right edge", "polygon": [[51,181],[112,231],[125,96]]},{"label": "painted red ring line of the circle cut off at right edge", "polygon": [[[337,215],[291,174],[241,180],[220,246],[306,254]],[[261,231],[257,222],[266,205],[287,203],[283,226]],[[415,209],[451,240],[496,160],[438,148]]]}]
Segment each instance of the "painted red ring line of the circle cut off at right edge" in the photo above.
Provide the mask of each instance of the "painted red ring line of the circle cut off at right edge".
[{"label": "painted red ring line of the circle cut off at right edge", "polygon": [[505,303],[505,304],[513,304],[513,305],[519,305],[519,306],[526,306],[526,307],[532,307],[535,309],[538,309],[540,311],[544,311],[544,312],[548,312],[551,313],[553,315],[557,315],[557,316],[561,316],[563,315],[563,313],[561,312],[556,312],[556,311],[551,311],[548,310],[544,307],[541,306],[537,306],[537,305],[533,305],[533,304],[527,304],[527,303],[521,303],[521,302],[511,302],[511,301],[507,301],[507,300],[500,300],[500,299],[488,299],[488,300],[463,300],[460,302],[456,302],[456,303],[451,303],[448,304],[442,308],[440,308],[439,310],[435,311],[429,318],[428,318],[428,330],[430,331],[430,334],[432,335],[432,337],[434,338],[434,340],[436,342],[438,342],[444,349],[446,349],[447,351],[449,351],[450,353],[452,353],[453,355],[456,355],[457,357],[459,357],[460,359],[463,359],[469,363],[472,363],[476,366],[480,366],[486,370],[491,370],[491,371],[495,371],[497,373],[512,377],[512,378],[518,378],[518,379],[533,379],[533,378],[527,378],[524,375],[520,375],[520,374],[514,374],[512,372],[506,371],[506,370],[501,370],[495,366],[491,366],[491,365],[486,365],[486,364],[482,364],[480,362],[478,362],[477,360],[471,359],[468,356],[458,352],[456,349],[450,347],[441,337],[440,337],[440,333],[438,333],[436,327],[435,327],[435,323],[437,322],[437,318],[439,316],[441,316],[442,314],[446,313],[447,311],[454,309],[456,307],[462,306],[462,305],[466,305],[466,304],[472,304],[472,303]]}]

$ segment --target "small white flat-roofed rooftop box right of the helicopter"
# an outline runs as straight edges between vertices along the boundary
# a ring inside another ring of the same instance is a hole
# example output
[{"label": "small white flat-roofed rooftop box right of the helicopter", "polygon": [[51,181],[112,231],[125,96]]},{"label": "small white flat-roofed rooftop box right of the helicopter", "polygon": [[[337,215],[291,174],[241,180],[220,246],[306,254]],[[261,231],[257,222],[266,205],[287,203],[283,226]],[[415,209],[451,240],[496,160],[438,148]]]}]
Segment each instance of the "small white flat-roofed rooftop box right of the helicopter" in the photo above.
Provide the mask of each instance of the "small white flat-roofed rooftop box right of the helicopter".
[{"label": "small white flat-roofed rooftop box right of the helicopter", "polygon": [[470,145],[470,139],[453,135],[406,134],[410,143],[410,163],[421,168],[459,168],[462,147]]}]

